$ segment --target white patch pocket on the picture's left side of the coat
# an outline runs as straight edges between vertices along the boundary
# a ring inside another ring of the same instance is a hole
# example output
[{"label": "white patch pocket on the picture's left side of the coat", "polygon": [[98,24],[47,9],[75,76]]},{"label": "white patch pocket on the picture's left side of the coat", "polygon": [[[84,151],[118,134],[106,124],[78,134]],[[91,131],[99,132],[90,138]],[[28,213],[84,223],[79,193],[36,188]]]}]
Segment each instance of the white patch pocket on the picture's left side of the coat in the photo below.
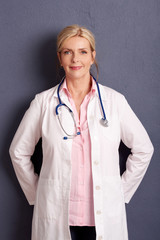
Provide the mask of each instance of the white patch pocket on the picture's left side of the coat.
[{"label": "white patch pocket on the picture's left side of the coat", "polygon": [[61,193],[61,187],[57,179],[40,179],[35,215],[50,220],[58,219],[63,210]]}]

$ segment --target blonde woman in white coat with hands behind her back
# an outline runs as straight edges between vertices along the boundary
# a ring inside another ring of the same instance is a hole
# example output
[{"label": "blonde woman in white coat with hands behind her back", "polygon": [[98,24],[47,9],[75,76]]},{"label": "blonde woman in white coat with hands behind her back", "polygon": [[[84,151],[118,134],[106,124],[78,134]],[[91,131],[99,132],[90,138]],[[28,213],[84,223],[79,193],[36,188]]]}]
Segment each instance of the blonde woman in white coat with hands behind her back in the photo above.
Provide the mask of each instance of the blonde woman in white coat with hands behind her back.
[{"label": "blonde woman in white coat with hands behind her back", "polygon": [[[10,147],[17,178],[34,204],[32,240],[127,240],[125,203],[147,170],[153,146],[124,96],[90,74],[97,63],[88,29],[64,28],[57,55],[65,77],[36,95]],[[40,137],[38,177],[30,157]],[[121,140],[131,148],[122,176]]]}]

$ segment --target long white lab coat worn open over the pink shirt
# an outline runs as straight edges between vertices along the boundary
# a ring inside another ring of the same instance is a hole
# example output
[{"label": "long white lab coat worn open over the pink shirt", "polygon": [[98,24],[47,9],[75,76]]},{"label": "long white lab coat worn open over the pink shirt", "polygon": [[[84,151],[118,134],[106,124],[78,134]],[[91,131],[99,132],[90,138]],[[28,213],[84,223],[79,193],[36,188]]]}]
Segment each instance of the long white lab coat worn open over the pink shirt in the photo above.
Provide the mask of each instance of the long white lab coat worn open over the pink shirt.
[{"label": "long white lab coat worn open over the pink shirt", "polygon": [[[147,170],[153,146],[124,96],[102,85],[100,91],[109,127],[100,123],[98,93],[91,98],[87,110],[96,239],[127,240],[125,203],[130,201]],[[60,95],[71,108],[65,93],[60,91]],[[10,147],[17,178],[28,202],[34,204],[32,240],[71,239],[68,209],[72,140],[63,140],[64,132],[55,114],[57,104],[57,86],[37,94]],[[70,122],[65,116],[64,119],[67,126]],[[38,177],[30,157],[40,137],[43,164]],[[132,151],[122,176],[118,153],[121,140]]]}]

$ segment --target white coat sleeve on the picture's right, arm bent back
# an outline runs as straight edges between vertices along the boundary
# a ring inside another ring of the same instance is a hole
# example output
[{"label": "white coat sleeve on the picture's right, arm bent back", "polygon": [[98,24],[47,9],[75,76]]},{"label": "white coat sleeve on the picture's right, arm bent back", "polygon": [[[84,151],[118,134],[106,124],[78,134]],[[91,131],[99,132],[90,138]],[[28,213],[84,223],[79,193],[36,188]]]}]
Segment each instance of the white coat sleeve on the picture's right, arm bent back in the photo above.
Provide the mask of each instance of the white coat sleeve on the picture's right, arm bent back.
[{"label": "white coat sleeve on the picture's right, arm bent back", "polygon": [[123,108],[120,119],[121,139],[131,149],[126,162],[126,171],[122,174],[124,198],[125,202],[129,203],[148,168],[153,154],[153,145],[125,98],[121,107]]}]

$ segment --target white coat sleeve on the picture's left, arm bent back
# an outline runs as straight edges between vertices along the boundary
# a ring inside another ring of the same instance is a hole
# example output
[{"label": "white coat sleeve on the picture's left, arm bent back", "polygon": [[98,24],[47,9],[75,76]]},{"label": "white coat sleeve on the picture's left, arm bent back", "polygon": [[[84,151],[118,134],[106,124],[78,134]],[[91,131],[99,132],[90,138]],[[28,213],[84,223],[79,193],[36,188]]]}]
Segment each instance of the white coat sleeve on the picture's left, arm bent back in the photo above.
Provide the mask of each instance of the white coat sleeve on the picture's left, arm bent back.
[{"label": "white coat sleeve on the picture's left, arm bent back", "polygon": [[36,96],[26,111],[9,149],[16,176],[30,205],[35,202],[38,182],[30,158],[41,137],[41,109],[37,98]]}]

